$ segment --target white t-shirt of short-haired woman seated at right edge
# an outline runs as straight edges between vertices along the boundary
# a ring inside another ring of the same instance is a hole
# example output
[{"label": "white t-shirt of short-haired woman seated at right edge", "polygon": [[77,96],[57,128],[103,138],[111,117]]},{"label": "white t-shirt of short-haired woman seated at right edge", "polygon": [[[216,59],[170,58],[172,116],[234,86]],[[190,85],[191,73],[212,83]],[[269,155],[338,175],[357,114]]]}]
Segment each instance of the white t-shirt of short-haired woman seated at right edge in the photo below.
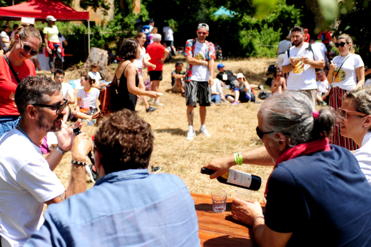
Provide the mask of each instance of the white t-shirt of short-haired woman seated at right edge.
[{"label": "white t-shirt of short-haired woman seated at right edge", "polygon": [[365,174],[368,183],[371,184],[371,132],[365,134],[362,140],[362,146],[354,151],[359,167]]}]

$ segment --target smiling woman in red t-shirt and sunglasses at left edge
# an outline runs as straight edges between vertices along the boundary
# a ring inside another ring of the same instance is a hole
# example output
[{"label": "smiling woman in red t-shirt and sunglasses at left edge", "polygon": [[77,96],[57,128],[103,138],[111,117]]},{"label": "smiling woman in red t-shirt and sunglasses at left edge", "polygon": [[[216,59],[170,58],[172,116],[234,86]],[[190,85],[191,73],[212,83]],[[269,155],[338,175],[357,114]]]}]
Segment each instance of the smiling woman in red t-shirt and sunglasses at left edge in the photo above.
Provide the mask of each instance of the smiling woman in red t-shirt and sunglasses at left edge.
[{"label": "smiling woman in red t-shirt and sunglasses at left edge", "polygon": [[39,31],[23,24],[10,40],[10,50],[0,57],[0,137],[19,122],[14,94],[23,78],[36,76],[35,66],[29,59],[39,53],[41,43]]}]

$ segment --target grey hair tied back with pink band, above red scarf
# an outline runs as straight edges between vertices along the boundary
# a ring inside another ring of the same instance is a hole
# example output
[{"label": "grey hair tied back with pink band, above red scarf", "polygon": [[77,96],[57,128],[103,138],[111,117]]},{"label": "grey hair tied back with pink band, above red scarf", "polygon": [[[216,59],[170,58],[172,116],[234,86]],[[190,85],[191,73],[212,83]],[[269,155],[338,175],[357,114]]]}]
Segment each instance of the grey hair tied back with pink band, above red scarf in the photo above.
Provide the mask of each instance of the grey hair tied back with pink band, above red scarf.
[{"label": "grey hair tied back with pink band, above red scarf", "polygon": [[284,134],[291,147],[328,137],[335,124],[335,115],[327,107],[315,119],[312,101],[300,91],[273,94],[263,102],[258,116],[263,120],[263,132]]}]

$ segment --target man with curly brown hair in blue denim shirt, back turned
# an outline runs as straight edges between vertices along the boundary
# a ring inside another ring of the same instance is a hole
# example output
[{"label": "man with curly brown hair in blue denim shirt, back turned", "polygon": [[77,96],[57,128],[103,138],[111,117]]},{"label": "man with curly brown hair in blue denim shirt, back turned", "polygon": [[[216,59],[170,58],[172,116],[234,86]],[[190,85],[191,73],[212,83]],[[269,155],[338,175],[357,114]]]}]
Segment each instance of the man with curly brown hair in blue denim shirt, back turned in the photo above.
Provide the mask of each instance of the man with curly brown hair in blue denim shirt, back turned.
[{"label": "man with curly brown hair in blue denim shirt, back turned", "polygon": [[200,246],[194,201],[172,174],[150,174],[150,124],[127,109],[95,134],[101,178],[84,193],[49,206],[24,246]]}]

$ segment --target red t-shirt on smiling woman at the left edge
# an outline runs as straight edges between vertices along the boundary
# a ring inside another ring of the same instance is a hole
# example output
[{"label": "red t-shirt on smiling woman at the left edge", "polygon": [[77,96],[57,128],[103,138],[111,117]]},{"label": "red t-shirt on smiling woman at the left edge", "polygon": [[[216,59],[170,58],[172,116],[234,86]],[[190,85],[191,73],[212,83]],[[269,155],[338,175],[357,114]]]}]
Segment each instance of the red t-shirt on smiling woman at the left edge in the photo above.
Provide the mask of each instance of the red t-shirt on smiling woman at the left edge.
[{"label": "red t-shirt on smiling woman at the left edge", "polygon": [[[29,59],[21,66],[12,66],[21,81],[27,76],[36,76],[35,65]],[[18,83],[3,56],[0,57],[0,68],[0,116],[19,115],[12,102]]]}]

